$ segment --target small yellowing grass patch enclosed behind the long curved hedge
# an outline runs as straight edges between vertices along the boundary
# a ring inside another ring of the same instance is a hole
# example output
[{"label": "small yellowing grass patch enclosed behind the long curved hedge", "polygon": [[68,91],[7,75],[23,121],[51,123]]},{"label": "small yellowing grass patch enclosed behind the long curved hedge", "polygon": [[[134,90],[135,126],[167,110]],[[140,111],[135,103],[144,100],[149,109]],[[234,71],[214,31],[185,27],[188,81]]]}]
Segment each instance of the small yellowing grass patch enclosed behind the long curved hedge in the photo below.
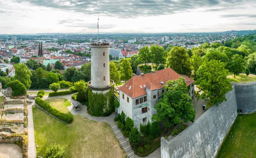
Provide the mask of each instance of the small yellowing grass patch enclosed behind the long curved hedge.
[{"label": "small yellowing grass patch enclosed behind the long curved hedge", "polygon": [[50,104],[53,108],[56,108],[57,110],[69,114],[72,116],[72,114],[68,110],[68,106],[71,105],[71,103],[65,99],[65,98],[55,98],[55,99],[46,99],[44,100],[46,103]]}]

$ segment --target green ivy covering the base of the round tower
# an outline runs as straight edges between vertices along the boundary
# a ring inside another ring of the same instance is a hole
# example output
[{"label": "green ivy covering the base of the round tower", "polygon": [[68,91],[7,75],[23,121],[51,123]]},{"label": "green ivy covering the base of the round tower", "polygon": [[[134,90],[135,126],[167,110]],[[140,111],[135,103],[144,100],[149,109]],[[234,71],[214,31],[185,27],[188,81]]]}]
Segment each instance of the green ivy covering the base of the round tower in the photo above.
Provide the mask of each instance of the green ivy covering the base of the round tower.
[{"label": "green ivy covering the base of the round tower", "polygon": [[[115,111],[114,87],[112,87],[106,94],[92,93],[92,90],[89,89],[88,100],[88,110],[93,116],[109,116]],[[106,112],[104,112],[104,109],[106,109]]]}]

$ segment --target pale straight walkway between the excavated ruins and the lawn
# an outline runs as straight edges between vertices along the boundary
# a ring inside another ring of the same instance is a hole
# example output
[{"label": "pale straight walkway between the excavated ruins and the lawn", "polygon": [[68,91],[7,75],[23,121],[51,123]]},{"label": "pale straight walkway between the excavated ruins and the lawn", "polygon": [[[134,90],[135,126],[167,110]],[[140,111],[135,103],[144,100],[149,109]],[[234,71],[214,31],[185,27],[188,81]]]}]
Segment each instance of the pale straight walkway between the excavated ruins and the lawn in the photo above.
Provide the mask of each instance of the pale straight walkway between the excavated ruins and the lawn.
[{"label": "pale straight walkway between the excavated ruins and the lawn", "polygon": [[33,122],[33,112],[32,112],[32,106],[35,104],[35,100],[30,100],[30,101],[32,101],[33,103],[27,104],[28,105],[28,138],[29,138],[28,156],[29,158],[35,158],[36,148],[35,148],[34,122]]}]

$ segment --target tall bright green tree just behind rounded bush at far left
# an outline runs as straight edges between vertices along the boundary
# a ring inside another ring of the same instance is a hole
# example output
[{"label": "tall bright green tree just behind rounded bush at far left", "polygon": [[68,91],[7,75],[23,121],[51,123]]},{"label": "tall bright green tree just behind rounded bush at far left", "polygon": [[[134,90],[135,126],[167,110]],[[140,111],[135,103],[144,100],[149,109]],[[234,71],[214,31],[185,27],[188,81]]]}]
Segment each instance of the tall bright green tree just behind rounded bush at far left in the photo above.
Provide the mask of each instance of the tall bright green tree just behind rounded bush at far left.
[{"label": "tall bright green tree just behind rounded bush at far left", "polygon": [[31,86],[30,76],[32,75],[28,67],[24,63],[14,65],[15,68],[15,80],[19,80],[28,89]]}]

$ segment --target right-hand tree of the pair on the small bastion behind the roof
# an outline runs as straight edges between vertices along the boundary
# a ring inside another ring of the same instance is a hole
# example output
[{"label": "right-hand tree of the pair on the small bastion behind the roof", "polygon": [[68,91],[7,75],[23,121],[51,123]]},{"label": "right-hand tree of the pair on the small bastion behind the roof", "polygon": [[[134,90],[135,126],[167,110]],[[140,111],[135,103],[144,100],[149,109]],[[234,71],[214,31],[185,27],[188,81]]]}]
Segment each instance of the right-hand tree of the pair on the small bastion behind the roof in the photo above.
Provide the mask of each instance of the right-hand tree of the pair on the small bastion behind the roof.
[{"label": "right-hand tree of the pair on the small bastion behind the roof", "polygon": [[164,54],[163,47],[160,47],[158,45],[150,46],[150,53],[152,55],[152,63],[154,63],[156,66],[165,62],[166,56]]}]

